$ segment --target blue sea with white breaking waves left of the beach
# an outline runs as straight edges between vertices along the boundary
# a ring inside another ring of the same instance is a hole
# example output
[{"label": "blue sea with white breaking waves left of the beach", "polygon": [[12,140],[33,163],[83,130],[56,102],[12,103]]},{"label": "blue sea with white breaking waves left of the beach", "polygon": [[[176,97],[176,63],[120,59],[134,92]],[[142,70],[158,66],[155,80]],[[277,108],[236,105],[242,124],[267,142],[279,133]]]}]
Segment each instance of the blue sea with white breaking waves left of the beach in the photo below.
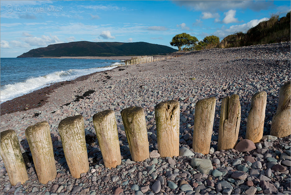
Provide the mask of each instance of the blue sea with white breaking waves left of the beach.
[{"label": "blue sea with white breaking waves left of the beach", "polygon": [[6,102],[53,83],[74,80],[93,72],[110,70],[104,67],[119,59],[53,59],[0,58],[0,102]]}]

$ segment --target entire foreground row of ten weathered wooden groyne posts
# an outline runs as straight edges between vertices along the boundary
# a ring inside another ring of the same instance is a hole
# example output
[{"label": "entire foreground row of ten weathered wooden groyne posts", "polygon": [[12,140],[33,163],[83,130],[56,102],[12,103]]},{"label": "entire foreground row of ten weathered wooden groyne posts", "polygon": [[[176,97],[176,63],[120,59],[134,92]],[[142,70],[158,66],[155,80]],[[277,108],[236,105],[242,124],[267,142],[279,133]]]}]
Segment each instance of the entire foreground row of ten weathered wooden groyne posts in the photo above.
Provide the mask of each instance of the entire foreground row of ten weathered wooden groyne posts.
[{"label": "entire foreground row of ten weathered wooden groyne posts", "polygon": [[[279,93],[279,104],[273,116],[271,135],[285,137],[290,135],[290,82],[285,83]],[[208,154],[210,149],[216,98],[204,98],[195,106],[193,129],[194,152]],[[251,99],[248,115],[246,139],[257,143],[263,135],[266,109],[266,92],[258,92]],[[158,151],[161,157],[179,155],[180,103],[176,100],[160,102],[155,106]],[[218,150],[235,147],[240,129],[241,109],[236,94],[222,99],[218,132]],[[129,150],[133,161],[144,161],[150,157],[144,109],[138,106],[121,111]],[[280,121],[280,122],[277,122]],[[119,139],[114,111],[106,110],[93,116],[96,137],[99,142],[105,167],[112,168],[121,164]],[[83,116],[67,117],[59,123],[59,133],[70,173],[80,178],[81,173],[89,170]],[[16,132],[1,132],[1,156],[4,161],[11,185],[28,180],[24,160]],[[46,121],[29,126],[25,136],[32,153],[39,182],[46,184],[56,177],[56,165],[49,125]]]}]

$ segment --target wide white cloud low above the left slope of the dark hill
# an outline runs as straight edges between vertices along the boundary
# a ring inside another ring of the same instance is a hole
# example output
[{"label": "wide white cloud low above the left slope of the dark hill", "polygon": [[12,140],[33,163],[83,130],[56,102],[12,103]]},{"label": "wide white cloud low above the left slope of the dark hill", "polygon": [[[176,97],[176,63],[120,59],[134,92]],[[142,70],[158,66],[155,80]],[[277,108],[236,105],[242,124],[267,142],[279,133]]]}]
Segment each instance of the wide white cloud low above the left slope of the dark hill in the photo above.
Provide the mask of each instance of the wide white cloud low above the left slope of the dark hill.
[{"label": "wide white cloud low above the left slope of the dark hill", "polygon": [[22,38],[23,41],[30,46],[48,46],[51,44],[62,43],[57,36],[45,36],[42,37],[26,37]]}]

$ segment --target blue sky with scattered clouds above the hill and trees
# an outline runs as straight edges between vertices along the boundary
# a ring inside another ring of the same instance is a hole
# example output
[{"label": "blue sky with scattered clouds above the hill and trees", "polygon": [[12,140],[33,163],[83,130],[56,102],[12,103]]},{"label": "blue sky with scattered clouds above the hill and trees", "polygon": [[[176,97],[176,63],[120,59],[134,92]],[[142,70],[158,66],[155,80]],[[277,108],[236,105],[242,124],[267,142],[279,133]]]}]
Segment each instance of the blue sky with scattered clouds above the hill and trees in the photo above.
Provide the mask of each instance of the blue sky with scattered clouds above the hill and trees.
[{"label": "blue sky with scattered clouds above the hill and trees", "polygon": [[71,41],[170,46],[184,32],[223,39],[271,14],[286,15],[290,1],[1,1],[0,7],[0,55],[16,57]]}]

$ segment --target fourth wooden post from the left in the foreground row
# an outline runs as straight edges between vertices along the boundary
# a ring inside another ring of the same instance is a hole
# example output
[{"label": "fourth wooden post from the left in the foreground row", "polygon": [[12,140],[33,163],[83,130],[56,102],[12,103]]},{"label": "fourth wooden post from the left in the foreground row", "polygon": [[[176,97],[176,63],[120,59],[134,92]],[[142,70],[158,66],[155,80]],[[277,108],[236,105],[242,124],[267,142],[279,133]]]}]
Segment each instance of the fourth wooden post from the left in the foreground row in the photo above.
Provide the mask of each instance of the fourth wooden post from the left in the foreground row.
[{"label": "fourth wooden post from the left in the foreground row", "polygon": [[93,115],[93,124],[105,167],[115,168],[121,164],[118,132],[113,110]]}]

